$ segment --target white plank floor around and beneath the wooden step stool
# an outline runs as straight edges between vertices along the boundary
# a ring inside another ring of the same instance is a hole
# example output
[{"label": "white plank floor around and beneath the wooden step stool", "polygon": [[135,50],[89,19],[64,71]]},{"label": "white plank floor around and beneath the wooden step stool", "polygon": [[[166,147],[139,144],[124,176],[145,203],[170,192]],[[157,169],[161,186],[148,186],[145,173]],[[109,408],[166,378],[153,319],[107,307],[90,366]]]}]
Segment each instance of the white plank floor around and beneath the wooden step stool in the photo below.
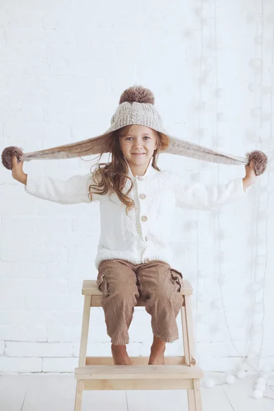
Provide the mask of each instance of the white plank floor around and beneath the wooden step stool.
[{"label": "white plank floor around and beneath the wooden step stool", "polygon": [[[202,383],[203,411],[273,411],[274,381],[264,398],[252,398],[255,377],[223,384],[224,375],[213,377],[218,386]],[[73,411],[75,379],[73,375],[6,375],[0,377],[1,411]],[[183,411],[187,410],[185,391],[85,391],[82,411]]]}]

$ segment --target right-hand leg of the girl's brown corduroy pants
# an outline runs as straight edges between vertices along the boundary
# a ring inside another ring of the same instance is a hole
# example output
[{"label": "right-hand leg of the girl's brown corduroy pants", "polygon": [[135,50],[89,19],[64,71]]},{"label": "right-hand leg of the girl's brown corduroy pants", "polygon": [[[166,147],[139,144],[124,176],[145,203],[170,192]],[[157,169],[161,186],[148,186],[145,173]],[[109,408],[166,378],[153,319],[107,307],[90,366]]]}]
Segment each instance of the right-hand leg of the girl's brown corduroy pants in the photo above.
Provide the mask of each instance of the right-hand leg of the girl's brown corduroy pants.
[{"label": "right-hand leg of the girl's brown corduroy pants", "polygon": [[171,343],[179,338],[176,317],[182,307],[182,274],[158,260],[136,268],[139,291],[151,314],[153,335]]}]

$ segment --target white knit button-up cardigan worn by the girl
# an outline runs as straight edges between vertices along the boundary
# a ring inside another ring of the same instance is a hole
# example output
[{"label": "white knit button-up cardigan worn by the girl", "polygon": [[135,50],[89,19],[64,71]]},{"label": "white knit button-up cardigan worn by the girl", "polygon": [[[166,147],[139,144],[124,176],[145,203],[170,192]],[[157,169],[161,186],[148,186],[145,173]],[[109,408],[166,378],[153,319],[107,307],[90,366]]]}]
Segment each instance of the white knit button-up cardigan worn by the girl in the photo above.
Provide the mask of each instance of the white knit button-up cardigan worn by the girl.
[{"label": "white knit button-up cardigan worn by the girl", "polygon": [[[162,260],[173,266],[173,252],[168,245],[175,207],[210,210],[247,196],[242,178],[227,184],[186,186],[182,177],[169,171],[156,171],[149,164],[145,175],[132,178],[129,197],[135,208],[125,212],[119,198],[92,194],[92,202],[100,201],[101,236],[95,266],[102,260],[120,258],[141,264]],[[92,175],[73,175],[69,179],[27,175],[25,191],[35,197],[60,204],[90,203],[88,186]],[[130,186],[127,182],[124,191]],[[90,210],[90,214],[92,210]]]}]

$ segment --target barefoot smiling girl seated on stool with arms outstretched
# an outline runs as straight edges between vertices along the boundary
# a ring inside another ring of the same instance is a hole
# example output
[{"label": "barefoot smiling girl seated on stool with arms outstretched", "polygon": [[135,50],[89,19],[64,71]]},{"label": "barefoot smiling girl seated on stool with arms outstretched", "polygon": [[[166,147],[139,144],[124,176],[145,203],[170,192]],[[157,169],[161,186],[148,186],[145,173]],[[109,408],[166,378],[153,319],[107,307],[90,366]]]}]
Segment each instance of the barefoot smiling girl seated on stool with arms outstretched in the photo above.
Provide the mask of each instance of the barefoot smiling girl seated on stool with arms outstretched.
[{"label": "barefoot smiling girl seated on stool with arms outstretched", "polygon": [[[97,284],[103,292],[114,364],[120,365],[132,364],[126,345],[140,297],[151,314],[149,364],[164,364],[166,342],[178,338],[182,273],[173,267],[168,245],[175,207],[210,210],[245,197],[245,190],[256,180],[253,161],[245,166],[245,178],[212,186],[186,186],[178,175],[160,171],[158,153],[169,146],[169,136],[159,132],[158,113],[154,108],[149,113],[148,104],[137,94],[138,99],[127,102],[130,116],[120,110],[119,118],[112,118],[121,125],[105,136],[112,158],[98,164],[94,172],[66,180],[36,177],[23,173],[23,162],[15,155],[12,158],[12,177],[25,184],[29,194],[61,204],[100,202]],[[104,151],[101,148],[101,155]]]}]

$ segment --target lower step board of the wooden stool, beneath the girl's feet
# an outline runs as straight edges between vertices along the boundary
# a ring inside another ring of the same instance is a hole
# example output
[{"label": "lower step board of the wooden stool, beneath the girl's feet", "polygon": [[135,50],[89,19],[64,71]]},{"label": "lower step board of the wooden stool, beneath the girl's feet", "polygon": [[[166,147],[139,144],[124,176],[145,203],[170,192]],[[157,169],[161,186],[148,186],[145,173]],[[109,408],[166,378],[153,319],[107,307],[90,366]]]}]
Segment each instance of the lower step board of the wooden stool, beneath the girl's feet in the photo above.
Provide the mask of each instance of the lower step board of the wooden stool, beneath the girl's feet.
[{"label": "lower step board of the wooden stool, beneath the girl's feet", "polygon": [[197,379],[199,366],[186,365],[86,365],[75,369],[76,379]]}]

